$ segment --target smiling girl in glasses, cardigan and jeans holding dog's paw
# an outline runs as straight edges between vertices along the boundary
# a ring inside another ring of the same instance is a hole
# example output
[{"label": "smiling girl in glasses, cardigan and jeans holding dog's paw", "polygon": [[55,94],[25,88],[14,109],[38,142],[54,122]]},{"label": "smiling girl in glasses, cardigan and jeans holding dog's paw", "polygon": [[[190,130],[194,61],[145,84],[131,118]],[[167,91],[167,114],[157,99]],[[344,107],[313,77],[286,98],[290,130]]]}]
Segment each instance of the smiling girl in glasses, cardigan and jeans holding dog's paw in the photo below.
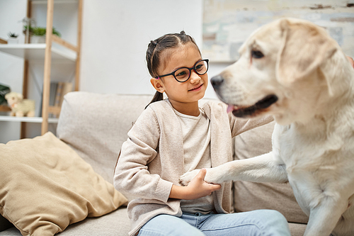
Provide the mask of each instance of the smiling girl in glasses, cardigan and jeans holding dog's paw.
[{"label": "smiling girl in glasses, cardigan and jeans holding dog's paw", "polygon": [[[232,213],[232,183],[207,184],[206,170],[232,161],[232,137],[273,118],[239,120],[224,103],[198,106],[208,60],[182,31],[149,43],[147,67],[156,95],[122,145],[115,189],[135,195],[130,235],[290,235],[275,210]],[[168,99],[163,100],[163,93]],[[178,178],[202,169],[188,186]]]}]

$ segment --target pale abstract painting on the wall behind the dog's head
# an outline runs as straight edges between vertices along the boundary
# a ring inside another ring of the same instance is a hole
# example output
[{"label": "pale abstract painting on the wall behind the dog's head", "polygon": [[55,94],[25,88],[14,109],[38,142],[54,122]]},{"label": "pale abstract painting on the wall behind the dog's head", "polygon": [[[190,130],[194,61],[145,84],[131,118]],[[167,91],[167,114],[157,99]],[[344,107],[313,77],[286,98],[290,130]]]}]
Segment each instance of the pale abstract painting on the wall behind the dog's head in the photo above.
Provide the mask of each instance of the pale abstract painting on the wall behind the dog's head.
[{"label": "pale abstract painting on the wall behind the dog's head", "polygon": [[354,56],[354,4],[343,0],[204,0],[202,54],[211,62],[235,62],[246,38],[282,17],[326,28],[346,55]]}]

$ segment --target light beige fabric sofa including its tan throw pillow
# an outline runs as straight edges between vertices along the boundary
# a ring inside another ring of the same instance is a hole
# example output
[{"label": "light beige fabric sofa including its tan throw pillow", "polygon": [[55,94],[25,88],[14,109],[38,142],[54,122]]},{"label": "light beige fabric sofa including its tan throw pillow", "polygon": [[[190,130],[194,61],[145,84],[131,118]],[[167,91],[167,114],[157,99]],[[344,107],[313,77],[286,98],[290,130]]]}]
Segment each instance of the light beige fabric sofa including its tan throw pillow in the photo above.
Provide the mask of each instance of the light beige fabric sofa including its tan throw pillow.
[{"label": "light beige fabric sofa including its tan throw pillow", "polygon": [[[10,174],[3,176],[0,169],[0,178],[4,178],[0,184],[0,236],[21,233],[62,236],[127,235],[130,220],[126,206],[131,198],[112,189],[113,171],[122,142],[127,139],[127,131],[151,99],[151,95],[71,92],[64,96],[56,136],[47,133],[33,139],[0,145],[1,162],[5,160],[8,166],[16,162],[14,167],[8,168],[25,168],[23,165],[30,158],[30,150],[34,150],[31,158],[38,159],[35,162],[42,168],[40,171],[33,171],[37,167],[30,166],[21,173],[11,175],[12,172],[8,172]],[[206,99],[201,102],[204,101]],[[270,152],[273,125],[274,123],[263,125],[235,137],[232,140],[234,159]],[[39,149],[41,145],[44,150]],[[21,152],[13,151],[20,149]],[[52,152],[47,153],[47,150]],[[44,154],[40,154],[41,152]],[[6,156],[6,153],[11,157]],[[52,156],[57,158],[53,161],[54,164],[51,164]],[[9,158],[11,159],[8,160]],[[30,159],[27,165],[33,165],[33,162]],[[42,167],[44,163],[47,165]],[[63,165],[61,169],[55,169],[60,163]],[[72,164],[66,167],[67,163]],[[34,172],[37,179],[31,176],[18,177],[24,172]],[[47,172],[47,176],[42,176]],[[64,177],[61,176],[63,172],[67,173]],[[86,179],[82,180],[84,175]],[[16,178],[19,180],[9,187]],[[54,185],[47,183],[51,183],[51,178],[56,179]],[[46,179],[47,182],[41,184],[42,180],[38,179]],[[62,187],[62,182],[69,183],[69,186]],[[97,186],[98,183],[101,185]],[[55,188],[59,188],[59,191]],[[52,191],[52,195],[48,195]],[[63,192],[68,193],[62,196]],[[13,193],[11,198],[8,197],[10,193]],[[235,181],[233,194],[235,212],[275,209],[285,215],[293,236],[304,234],[308,218],[299,208],[289,184]],[[75,196],[74,200],[72,196]],[[69,200],[63,201],[60,197]],[[38,201],[38,198],[42,199]],[[44,202],[49,207],[42,206]]]}]

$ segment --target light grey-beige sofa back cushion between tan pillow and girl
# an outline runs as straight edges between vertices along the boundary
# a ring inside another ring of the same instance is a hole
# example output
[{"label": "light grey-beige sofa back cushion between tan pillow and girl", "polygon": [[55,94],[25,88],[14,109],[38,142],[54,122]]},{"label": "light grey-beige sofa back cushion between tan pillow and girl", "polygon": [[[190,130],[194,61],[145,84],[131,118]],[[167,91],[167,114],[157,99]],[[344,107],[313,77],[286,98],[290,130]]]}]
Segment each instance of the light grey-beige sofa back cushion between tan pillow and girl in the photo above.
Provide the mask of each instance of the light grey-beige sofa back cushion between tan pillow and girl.
[{"label": "light grey-beige sofa back cushion between tan pillow and girl", "polygon": [[151,99],[151,95],[69,93],[62,103],[57,137],[113,184],[120,147]]}]

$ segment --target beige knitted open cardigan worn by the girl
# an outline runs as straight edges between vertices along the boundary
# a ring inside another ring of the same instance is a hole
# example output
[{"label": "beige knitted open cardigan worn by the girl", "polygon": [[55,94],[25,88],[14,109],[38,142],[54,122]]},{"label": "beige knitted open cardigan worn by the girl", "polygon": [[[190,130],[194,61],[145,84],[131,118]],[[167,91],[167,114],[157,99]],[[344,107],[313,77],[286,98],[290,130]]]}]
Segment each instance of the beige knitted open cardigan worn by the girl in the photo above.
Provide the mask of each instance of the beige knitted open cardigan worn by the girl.
[{"label": "beige knitted open cardigan worn by the girl", "polygon": [[[212,167],[232,161],[232,137],[273,120],[239,119],[226,112],[226,105],[210,101],[202,106],[210,119],[210,155]],[[139,116],[123,143],[115,168],[114,186],[137,198],[128,205],[132,222],[129,235],[135,235],[156,215],[181,216],[180,200],[169,198],[173,184],[183,174],[181,125],[169,101],[152,103]],[[231,182],[213,192],[217,213],[230,213]]]}]

